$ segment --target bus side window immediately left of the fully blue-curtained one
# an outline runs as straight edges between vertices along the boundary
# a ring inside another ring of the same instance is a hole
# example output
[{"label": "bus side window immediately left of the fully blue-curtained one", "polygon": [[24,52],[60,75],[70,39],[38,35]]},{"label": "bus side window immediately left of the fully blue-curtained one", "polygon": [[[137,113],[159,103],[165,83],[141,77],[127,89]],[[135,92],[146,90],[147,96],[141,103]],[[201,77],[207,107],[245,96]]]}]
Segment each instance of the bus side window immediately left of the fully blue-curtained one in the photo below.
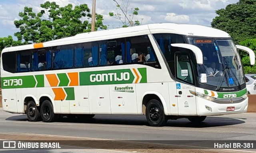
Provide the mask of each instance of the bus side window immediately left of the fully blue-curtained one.
[{"label": "bus side window immediately left of the fully blue-curtained one", "polygon": [[32,54],[32,70],[51,70],[52,50],[50,48],[34,50]]}]

